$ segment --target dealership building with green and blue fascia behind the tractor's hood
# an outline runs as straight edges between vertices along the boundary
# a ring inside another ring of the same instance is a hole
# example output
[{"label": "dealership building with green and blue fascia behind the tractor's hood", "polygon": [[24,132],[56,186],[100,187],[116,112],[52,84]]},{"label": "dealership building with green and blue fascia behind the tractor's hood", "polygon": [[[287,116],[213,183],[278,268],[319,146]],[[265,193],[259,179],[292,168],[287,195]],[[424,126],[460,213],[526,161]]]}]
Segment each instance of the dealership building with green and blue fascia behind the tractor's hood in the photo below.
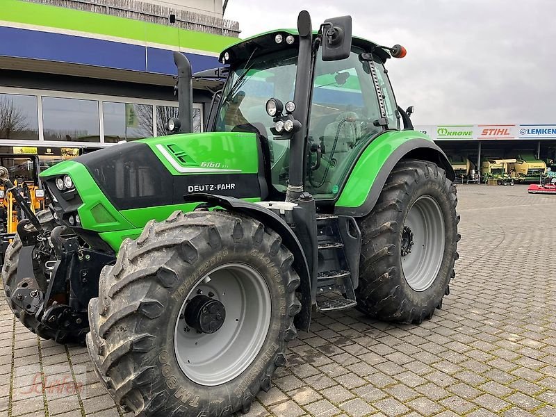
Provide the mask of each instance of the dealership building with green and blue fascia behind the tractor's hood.
[{"label": "dealership building with green and blue fascia behind the tractor's hood", "polygon": [[[193,72],[208,70],[239,34],[218,0],[1,3],[0,154],[39,154],[47,165],[167,133],[177,113],[173,51]],[[215,87],[194,83],[197,131]]]}]

